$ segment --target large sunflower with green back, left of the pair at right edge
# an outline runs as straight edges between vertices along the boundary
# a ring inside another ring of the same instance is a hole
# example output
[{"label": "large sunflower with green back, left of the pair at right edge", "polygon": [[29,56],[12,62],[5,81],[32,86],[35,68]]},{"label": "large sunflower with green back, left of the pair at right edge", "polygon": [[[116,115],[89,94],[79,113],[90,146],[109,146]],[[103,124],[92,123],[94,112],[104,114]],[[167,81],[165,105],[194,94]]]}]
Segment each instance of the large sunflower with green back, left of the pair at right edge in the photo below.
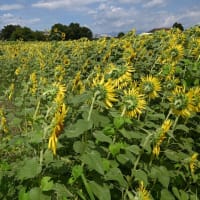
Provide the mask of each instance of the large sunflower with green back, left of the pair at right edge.
[{"label": "large sunflower with green back, left of the pair at right edge", "polygon": [[175,115],[187,118],[195,110],[193,93],[186,93],[184,86],[177,86],[168,99]]}]

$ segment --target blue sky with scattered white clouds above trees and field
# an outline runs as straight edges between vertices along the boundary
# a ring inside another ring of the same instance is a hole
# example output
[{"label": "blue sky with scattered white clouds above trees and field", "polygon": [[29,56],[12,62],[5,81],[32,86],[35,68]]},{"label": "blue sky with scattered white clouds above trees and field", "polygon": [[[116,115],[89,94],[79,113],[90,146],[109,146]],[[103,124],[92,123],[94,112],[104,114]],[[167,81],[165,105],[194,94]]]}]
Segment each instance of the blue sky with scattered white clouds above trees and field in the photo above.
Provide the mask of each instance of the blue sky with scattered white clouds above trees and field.
[{"label": "blue sky with scattered white clouds above trees and field", "polygon": [[95,33],[149,31],[200,24],[200,0],[0,0],[0,29],[8,24],[49,30],[77,22]]}]

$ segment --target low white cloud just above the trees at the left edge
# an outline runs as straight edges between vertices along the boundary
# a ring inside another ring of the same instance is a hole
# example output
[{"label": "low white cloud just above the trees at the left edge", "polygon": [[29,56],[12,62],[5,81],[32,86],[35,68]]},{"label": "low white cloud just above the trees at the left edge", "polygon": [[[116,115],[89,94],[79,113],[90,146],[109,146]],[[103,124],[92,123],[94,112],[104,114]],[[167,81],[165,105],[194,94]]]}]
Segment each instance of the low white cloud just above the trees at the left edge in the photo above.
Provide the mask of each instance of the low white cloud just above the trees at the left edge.
[{"label": "low white cloud just above the trees at the left edge", "polygon": [[38,23],[39,21],[40,18],[24,19],[17,17],[11,13],[5,13],[3,15],[0,15],[0,28],[3,28],[8,24],[30,27],[31,25]]}]

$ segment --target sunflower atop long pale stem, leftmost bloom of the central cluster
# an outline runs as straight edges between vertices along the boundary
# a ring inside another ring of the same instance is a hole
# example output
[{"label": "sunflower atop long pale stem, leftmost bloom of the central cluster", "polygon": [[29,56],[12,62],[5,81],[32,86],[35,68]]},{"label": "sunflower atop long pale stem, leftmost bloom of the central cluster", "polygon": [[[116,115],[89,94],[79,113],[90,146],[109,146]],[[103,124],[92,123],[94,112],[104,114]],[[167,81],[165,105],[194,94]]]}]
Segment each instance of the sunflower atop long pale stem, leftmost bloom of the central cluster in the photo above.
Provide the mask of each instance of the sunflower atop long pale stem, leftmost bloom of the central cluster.
[{"label": "sunflower atop long pale stem, leftmost bloom of the central cluster", "polygon": [[112,81],[109,79],[105,82],[102,75],[98,75],[93,79],[92,87],[94,88],[95,93],[97,94],[96,99],[103,101],[106,104],[106,107],[112,107],[113,102],[117,102],[115,89],[112,84]]}]

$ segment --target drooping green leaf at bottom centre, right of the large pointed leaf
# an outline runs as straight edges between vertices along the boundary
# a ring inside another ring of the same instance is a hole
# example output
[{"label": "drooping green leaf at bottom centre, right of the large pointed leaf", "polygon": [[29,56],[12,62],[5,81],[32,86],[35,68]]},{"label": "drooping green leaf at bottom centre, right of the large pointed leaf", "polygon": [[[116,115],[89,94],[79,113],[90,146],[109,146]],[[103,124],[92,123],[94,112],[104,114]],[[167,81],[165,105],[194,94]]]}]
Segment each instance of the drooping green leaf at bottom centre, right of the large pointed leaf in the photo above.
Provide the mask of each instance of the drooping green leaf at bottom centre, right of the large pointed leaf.
[{"label": "drooping green leaf at bottom centre, right of the large pointed leaf", "polygon": [[111,168],[105,175],[105,179],[117,181],[123,188],[127,187],[127,182],[125,181],[120,169],[117,167]]}]

